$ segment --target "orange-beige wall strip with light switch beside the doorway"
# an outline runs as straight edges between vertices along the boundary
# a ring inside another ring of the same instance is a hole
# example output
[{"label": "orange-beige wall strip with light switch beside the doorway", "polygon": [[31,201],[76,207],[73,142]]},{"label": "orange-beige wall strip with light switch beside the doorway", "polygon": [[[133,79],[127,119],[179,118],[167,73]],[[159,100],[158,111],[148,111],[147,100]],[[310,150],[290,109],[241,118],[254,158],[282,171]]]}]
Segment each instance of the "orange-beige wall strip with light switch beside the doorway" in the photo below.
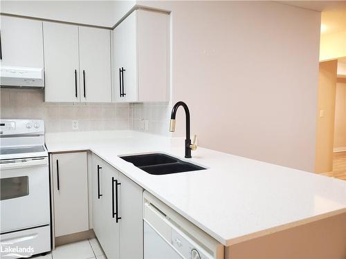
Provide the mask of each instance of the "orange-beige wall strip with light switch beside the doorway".
[{"label": "orange-beige wall strip with light switch beside the doorway", "polygon": [[316,173],[333,171],[337,66],[337,60],[320,63],[316,133]]}]

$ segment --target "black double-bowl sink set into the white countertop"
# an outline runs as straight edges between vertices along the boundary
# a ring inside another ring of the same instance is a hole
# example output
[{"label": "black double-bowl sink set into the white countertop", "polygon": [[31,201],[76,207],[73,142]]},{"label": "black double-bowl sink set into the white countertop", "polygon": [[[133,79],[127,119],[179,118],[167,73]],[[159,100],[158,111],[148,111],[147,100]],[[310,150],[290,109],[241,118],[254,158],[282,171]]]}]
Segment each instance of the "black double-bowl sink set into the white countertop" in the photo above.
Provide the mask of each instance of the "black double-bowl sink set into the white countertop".
[{"label": "black double-bowl sink set into the white countertop", "polygon": [[176,157],[163,153],[152,153],[144,155],[125,155],[120,156],[123,160],[134,164],[139,169],[152,175],[167,175],[170,173],[181,173],[188,171],[199,171],[205,169]]}]

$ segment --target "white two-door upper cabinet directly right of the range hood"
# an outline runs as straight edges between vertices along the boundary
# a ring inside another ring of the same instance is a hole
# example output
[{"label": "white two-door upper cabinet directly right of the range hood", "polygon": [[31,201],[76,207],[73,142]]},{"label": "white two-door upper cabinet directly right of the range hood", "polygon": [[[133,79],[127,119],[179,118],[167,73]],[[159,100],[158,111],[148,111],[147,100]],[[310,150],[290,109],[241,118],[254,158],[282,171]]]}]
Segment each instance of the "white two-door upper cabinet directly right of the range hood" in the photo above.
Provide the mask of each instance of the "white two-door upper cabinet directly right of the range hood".
[{"label": "white two-door upper cabinet directly right of the range hood", "polygon": [[46,102],[111,102],[110,31],[44,22]]}]

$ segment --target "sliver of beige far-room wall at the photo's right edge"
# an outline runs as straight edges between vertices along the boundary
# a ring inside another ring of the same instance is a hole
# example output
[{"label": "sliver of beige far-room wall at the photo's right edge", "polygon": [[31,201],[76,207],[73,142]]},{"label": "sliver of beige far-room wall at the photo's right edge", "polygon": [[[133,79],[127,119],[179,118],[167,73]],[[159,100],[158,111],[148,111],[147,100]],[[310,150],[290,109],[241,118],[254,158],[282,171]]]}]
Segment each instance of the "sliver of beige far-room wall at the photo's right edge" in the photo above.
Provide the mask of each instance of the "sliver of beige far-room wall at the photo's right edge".
[{"label": "sliver of beige far-room wall at the photo's right edge", "polygon": [[346,151],[346,78],[336,82],[334,148]]}]

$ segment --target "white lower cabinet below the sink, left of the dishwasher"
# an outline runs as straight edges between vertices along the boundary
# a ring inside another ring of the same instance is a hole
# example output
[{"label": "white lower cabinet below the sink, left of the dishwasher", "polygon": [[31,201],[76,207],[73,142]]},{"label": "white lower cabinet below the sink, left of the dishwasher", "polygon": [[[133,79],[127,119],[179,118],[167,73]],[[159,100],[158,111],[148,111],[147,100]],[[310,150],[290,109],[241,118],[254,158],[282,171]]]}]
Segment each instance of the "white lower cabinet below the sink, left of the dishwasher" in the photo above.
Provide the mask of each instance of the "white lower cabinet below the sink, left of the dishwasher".
[{"label": "white lower cabinet below the sink, left of the dishwasher", "polygon": [[93,155],[93,230],[108,259],[143,258],[143,189]]}]

